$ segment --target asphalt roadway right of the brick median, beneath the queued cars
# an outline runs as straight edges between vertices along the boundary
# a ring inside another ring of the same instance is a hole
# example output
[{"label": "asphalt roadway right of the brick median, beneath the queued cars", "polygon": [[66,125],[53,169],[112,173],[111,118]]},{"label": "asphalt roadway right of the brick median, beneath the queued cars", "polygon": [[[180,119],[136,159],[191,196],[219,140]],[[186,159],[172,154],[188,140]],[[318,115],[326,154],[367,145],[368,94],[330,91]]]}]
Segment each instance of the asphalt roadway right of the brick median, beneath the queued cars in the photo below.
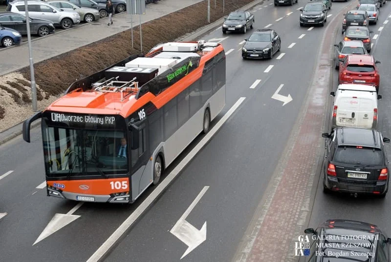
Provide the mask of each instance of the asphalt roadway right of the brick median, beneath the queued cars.
[{"label": "asphalt roadway right of the brick median, beneath the queued cars", "polygon": [[[379,124],[378,129],[382,131],[384,137],[391,137],[391,54],[390,50],[390,25],[389,22],[383,24],[384,21],[391,18],[391,4],[387,2],[385,6],[380,8],[379,21],[376,25],[369,25],[369,28],[374,32],[373,36],[377,40],[372,39],[374,43],[371,54],[376,60],[382,63],[379,66],[380,71],[380,89],[379,94],[383,99],[379,101]],[[381,28],[383,27],[383,28]],[[379,31],[379,29],[381,31]],[[337,34],[338,40],[342,40],[341,33]],[[334,70],[333,82],[334,90],[338,85],[338,71]],[[331,100],[330,100],[331,101]],[[329,104],[331,111],[331,104]],[[326,131],[325,131],[326,132]],[[385,144],[388,150],[388,158],[391,159],[390,144]],[[387,195],[385,199],[377,199],[366,196],[358,196],[354,198],[349,194],[324,194],[322,180],[320,179],[317,185],[316,195],[314,196],[314,205],[309,222],[310,227],[316,227],[321,222],[327,219],[352,219],[366,221],[372,224],[377,224],[387,234],[391,234],[390,225],[390,205],[391,196]]]}]

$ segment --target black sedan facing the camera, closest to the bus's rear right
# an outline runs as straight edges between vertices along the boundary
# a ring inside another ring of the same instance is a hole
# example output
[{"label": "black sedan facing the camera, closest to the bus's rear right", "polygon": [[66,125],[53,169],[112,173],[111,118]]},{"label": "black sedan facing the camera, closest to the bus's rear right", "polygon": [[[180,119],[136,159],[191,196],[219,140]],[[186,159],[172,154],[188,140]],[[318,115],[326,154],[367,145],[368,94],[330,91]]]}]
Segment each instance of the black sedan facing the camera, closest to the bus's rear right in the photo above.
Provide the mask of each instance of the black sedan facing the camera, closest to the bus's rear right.
[{"label": "black sedan facing the camera, closest to the bus's rear right", "polygon": [[241,50],[245,58],[268,58],[281,49],[281,38],[273,29],[258,29],[248,39]]}]

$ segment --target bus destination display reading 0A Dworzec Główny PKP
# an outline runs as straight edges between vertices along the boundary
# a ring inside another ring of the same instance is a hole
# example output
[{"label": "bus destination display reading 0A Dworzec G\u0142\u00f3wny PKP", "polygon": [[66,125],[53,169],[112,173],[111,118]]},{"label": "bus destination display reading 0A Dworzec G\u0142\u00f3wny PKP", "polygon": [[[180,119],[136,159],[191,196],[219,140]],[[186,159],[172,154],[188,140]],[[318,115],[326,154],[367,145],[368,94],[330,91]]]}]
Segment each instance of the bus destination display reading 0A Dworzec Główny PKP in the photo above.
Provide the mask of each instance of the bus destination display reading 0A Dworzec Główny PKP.
[{"label": "bus destination display reading 0A Dworzec G\u0142\u00f3wny PKP", "polygon": [[73,122],[86,124],[114,125],[115,117],[113,116],[89,116],[89,115],[65,115],[61,113],[51,113],[51,121],[53,122]]}]

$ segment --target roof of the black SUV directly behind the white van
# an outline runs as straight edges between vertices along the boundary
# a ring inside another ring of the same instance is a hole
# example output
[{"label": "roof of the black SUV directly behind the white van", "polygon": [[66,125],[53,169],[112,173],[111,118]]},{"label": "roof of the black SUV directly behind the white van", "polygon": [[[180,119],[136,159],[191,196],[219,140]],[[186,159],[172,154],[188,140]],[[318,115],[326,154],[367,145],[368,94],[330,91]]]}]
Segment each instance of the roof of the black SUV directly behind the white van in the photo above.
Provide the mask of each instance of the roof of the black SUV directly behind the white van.
[{"label": "roof of the black SUV directly behind the white van", "polygon": [[381,148],[380,132],[375,129],[361,127],[336,127],[338,145],[367,146]]}]

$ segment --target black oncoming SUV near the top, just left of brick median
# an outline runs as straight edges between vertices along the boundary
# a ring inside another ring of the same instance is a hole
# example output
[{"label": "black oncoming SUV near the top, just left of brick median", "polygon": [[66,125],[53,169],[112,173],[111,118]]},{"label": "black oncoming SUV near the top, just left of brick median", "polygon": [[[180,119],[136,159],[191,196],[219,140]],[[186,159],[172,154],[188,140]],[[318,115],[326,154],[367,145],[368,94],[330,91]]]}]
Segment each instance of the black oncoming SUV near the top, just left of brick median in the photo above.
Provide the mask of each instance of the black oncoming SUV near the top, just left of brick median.
[{"label": "black oncoming SUV near the top, just left of brick median", "polygon": [[300,26],[307,24],[324,26],[327,21],[327,8],[322,1],[307,2],[304,7],[299,9]]}]

